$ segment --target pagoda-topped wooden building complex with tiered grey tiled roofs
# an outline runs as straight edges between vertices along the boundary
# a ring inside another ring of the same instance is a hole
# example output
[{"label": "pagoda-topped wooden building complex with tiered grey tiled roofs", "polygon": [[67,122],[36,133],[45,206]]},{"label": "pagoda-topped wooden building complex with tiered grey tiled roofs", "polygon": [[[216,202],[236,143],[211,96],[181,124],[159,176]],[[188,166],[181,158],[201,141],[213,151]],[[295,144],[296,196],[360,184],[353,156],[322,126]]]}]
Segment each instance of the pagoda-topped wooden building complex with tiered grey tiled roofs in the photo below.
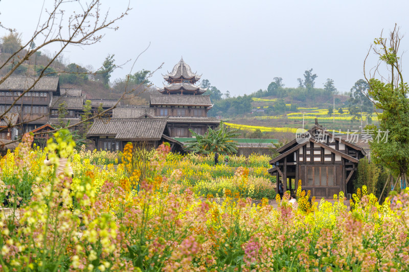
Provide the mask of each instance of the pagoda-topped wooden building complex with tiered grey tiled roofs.
[{"label": "pagoda-topped wooden building complex with tiered grey tiled roofs", "polygon": [[[145,145],[148,143],[153,147],[162,141],[168,141],[171,143],[172,150],[181,151],[183,144],[177,141],[177,137],[191,137],[192,133],[189,129],[198,134],[204,134],[209,127],[214,129],[218,126],[219,120],[207,117],[212,104],[209,95],[202,95],[206,89],[194,85],[200,76],[193,73],[183,59],[173,67],[172,72],[168,72],[163,77],[168,84],[158,89],[159,94],[150,95],[149,106],[113,109],[112,119],[94,122],[87,138],[93,139],[98,149],[123,150],[126,141]],[[106,126],[111,128],[110,123],[117,124],[112,127],[115,127],[115,133],[112,133],[112,129],[109,129],[110,133],[104,132]],[[132,126],[140,126],[140,124],[144,126],[138,128],[135,133],[127,135],[130,138],[123,138],[122,129],[132,130]],[[145,126],[145,124],[148,125]],[[100,129],[97,129],[97,126]],[[150,133],[152,129],[157,132],[155,135]],[[161,130],[162,133],[160,133]]]}]

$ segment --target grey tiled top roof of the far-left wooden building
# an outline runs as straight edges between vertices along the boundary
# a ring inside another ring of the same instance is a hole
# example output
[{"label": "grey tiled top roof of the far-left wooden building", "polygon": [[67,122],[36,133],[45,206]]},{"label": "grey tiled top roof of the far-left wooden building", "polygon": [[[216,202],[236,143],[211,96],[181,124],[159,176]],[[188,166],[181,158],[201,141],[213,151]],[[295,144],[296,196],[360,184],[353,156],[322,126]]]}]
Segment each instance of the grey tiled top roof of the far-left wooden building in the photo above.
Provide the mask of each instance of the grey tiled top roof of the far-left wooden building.
[{"label": "grey tiled top roof of the far-left wooden building", "polygon": [[[0,90],[27,90],[37,78],[34,77],[8,77],[2,84]],[[35,91],[57,91],[59,77],[42,77],[31,90]]]}]

